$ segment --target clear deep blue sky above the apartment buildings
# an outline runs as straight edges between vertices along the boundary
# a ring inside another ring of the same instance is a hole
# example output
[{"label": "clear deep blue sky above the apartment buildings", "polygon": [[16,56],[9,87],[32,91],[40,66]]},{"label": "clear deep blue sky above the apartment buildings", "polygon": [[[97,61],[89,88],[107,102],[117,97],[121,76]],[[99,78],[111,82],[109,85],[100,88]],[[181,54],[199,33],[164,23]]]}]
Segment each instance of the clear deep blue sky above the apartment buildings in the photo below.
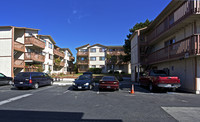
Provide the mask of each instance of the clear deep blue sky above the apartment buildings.
[{"label": "clear deep blue sky above the apartment buildings", "polygon": [[171,0],[1,0],[1,26],[40,29],[61,48],[123,45],[129,29],[153,20]]}]

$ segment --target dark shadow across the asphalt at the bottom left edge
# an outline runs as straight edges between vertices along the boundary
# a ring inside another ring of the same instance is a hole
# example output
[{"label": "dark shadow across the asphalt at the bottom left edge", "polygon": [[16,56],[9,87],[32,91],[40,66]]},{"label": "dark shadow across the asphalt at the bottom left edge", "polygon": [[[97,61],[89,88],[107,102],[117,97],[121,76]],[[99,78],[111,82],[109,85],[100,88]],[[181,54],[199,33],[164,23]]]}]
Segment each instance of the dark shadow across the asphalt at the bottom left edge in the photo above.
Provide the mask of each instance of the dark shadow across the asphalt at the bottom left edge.
[{"label": "dark shadow across the asphalt at the bottom left edge", "polygon": [[0,110],[1,122],[122,122],[117,119],[82,119],[84,113]]}]

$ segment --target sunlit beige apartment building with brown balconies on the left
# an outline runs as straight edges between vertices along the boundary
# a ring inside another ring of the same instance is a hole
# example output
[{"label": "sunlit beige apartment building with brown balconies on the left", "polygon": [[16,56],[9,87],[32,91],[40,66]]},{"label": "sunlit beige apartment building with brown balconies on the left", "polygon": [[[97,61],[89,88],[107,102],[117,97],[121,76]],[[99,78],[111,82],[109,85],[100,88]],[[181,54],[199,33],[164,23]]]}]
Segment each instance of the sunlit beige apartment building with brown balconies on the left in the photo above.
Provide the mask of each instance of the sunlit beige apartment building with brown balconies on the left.
[{"label": "sunlit beige apartment building with brown balconies on the left", "polygon": [[[1,73],[14,77],[19,72],[37,71],[39,66],[44,72],[49,69],[53,72],[55,65],[64,67],[63,51],[55,46],[51,36],[38,35],[38,31],[26,27],[0,26]],[[58,57],[61,63],[55,64],[54,59]]]}]

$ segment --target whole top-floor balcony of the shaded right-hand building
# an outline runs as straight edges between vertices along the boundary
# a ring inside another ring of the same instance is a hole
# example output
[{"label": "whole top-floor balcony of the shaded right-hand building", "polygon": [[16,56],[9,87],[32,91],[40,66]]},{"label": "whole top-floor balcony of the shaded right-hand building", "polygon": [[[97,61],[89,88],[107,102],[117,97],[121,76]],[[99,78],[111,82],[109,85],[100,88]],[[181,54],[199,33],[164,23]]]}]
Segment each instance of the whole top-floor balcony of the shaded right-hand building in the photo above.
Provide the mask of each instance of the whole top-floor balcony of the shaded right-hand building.
[{"label": "whole top-floor balcony of the shaded right-hand building", "polygon": [[[181,6],[179,6],[179,8],[175,9],[172,13],[165,17],[165,19],[159,25],[155,26],[155,29],[153,29],[147,35],[147,41],[149,44],[154,43],[159,38],[165,38],[164,36],[173,34],[181,27],[184,27],[188,23],[191,23],[192,20],[194,21],[196,18],[199,18],[199,16],[197,16],[197,14],[200,13],[199,0],[178,2],[183,3],[181,4]],[[157,20],[156,22],[159,23],[159,21],[160,20]],[[149,29],[152,28],[154,27],[150,27]]]}]

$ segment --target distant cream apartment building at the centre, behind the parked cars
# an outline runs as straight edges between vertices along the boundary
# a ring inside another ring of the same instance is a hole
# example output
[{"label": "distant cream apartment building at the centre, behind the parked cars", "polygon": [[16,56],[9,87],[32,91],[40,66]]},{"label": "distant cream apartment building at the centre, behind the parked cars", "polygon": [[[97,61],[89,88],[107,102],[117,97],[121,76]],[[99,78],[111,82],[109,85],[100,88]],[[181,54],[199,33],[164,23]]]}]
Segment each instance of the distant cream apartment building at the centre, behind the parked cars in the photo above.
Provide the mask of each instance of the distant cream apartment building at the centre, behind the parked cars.
[{"label": "distant cream apartment building at the centre, behind the parked cars", "polygon": [[[108,55],[125,55],[123,46],[104,46],[101,44],[83,45],[76,48],[78,72],[88,71],[89,68],[102,68],[102,73],[107,73],[113,69],[107,58]],[[116,62],[115,71],[130,73],[130,65],[124,62]]]}]

